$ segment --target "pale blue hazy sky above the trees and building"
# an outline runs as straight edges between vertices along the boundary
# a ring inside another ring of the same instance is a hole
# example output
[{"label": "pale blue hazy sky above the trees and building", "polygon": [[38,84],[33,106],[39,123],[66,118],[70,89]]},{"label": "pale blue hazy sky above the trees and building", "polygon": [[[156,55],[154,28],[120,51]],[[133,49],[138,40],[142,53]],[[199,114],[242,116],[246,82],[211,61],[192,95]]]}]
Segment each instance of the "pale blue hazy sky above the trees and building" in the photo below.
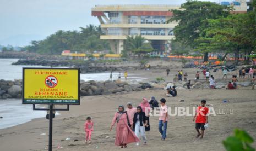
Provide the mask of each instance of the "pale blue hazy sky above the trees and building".
[{"label": "pale blue hazy sky above the trees and building", "polygon": [[[219,0],[208,0],[219,2]],[[0,0],[0,45],[25,46],[58,30],[99,25],[91,16],[95,5],[173,4],[186,0]]]}]

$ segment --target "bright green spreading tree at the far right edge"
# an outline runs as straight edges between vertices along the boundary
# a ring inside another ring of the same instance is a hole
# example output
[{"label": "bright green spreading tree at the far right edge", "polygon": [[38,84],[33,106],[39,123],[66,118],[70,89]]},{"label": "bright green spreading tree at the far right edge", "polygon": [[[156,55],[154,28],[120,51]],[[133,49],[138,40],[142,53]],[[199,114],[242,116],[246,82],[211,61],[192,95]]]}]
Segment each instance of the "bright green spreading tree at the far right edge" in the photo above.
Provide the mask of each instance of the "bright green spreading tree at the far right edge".
[{"label": "bright green spreading tree at the far right edge", "polygon": [[[222,51],[235,53],[239,57],[239,52],[245,56],[250,55],[256,49],[256,13],[232,14],[226,18],[208,19],[205,23],[204,34],[200,34],[195,40],[198,46],[195,50],[201,52]],[[249,57],[247,57],[248,61]],[[238,60],[237,60],[238,62]]]}]

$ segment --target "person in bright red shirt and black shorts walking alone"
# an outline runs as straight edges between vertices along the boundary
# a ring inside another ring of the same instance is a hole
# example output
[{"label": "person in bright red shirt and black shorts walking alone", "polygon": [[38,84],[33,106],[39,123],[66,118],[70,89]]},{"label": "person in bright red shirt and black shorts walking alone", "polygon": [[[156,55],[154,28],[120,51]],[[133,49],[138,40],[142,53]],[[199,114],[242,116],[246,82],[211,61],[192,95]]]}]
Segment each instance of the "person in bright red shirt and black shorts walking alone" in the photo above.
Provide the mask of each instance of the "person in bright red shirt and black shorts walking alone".
[{"label": "person in bright red shirt and black shorts walking alone", "polygon": [[[195,130],[197,130],[198,135],[197,138],[201,136],[200,138],[204,137],[204,125],[208,123],[208,111],[209,109],[205,107],[206,101],[201,100],[201,106],[197,108],[197,112],[195,113],[195,116],[193,118],[193,121],[195,121]],[[199,129],[201,129],[201,133],[199,132]]]}]

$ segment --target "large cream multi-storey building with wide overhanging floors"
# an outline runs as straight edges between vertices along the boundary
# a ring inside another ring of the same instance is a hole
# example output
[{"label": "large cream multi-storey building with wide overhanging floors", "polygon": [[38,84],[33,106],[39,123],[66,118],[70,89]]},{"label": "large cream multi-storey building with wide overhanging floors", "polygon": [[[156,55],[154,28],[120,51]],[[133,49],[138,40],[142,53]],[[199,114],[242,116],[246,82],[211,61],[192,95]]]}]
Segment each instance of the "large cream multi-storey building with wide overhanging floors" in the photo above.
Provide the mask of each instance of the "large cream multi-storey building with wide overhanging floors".
[{"label": "large cream multi-storey building with wide overhanging floors", "polygon": [[165,51],[167,41],[174,38],[173,28],[177,22],[167,21],[172,17],[174,5],[96,5],[92,16],[97,16],[106,33],[100,39],[110,40],[111,50],[117,54],[123,50],[127,36],[141,35],[150,40],[152,47]]}]

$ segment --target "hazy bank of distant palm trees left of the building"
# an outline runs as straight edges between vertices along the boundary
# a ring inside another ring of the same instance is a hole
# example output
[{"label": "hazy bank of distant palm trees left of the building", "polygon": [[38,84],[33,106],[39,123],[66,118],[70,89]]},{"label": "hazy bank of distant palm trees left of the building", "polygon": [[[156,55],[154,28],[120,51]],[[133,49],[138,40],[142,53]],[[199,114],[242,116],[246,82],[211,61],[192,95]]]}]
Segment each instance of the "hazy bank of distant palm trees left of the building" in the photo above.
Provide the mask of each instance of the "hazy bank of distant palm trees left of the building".
[{"label": "hazy bank of distant palm trees left of the building", "polygon": [[32,41],[25,47],[32,53],[60,55],[63,50],[77,51],[78,53],[93,53],[93,51],[109,50],[107,40],[100,40],[104,34],[100,26],[89,25],[80,27],[80,31],[57,31],[41,41]]}]

